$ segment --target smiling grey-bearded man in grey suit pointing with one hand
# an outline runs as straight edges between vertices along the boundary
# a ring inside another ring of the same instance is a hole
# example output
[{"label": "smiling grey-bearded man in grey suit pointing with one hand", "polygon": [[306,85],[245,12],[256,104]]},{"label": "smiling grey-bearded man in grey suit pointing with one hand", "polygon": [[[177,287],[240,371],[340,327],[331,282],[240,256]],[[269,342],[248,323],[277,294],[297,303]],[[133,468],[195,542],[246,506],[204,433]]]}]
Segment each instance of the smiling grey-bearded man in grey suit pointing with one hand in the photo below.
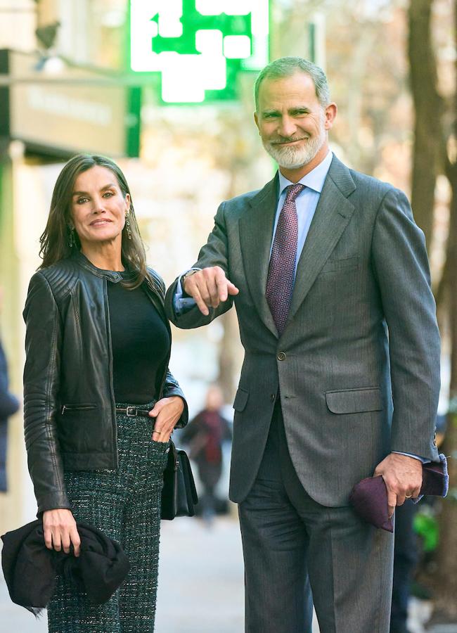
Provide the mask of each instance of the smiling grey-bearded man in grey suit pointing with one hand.
[{"label": "smiling grey-bearded man in grey suit pointing with one hand", "polygon": [[255,122],[279,171],[222,203],[193,269],[167,293],[195,328],[236,305],[245,360],[233,407],[246,631],[387,633],[392,535],[349,506],[382,475],[390,513],[417,497],[433,431],[439,333],[423,234],[401,191],[328,148],[323,71],[273,61]]}]

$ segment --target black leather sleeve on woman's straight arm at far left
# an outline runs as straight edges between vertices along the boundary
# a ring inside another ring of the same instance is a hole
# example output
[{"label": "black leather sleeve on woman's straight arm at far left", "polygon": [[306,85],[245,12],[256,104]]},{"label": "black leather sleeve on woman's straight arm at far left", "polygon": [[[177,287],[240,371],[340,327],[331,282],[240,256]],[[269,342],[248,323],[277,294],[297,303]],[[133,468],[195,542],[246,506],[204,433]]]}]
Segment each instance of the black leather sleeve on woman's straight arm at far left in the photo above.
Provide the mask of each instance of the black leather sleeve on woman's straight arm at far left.
[{"label": "black leather sleeve on woman's straight arm at far left", "polygon": [[68,508],[56,416],[62,326],[46,277],[30,281],[25,302],[24,433],[38,512]]}]

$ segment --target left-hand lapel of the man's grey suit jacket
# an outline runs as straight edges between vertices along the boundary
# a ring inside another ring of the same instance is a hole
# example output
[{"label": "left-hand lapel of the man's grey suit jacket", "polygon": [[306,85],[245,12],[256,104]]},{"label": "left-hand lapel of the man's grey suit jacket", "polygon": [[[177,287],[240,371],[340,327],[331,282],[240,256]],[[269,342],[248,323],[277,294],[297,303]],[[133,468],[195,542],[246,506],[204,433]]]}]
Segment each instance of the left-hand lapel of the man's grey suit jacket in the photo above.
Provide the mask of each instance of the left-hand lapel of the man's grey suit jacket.
[{"label": "left-hand lapel of the man's grey suit jacket", "polygon": [[240,218],[239,224],[245,276],[260,318],[278,336],[265,297],[271,236],[278,205],[278,174],[250,200],[250,205],[251,208]]}]

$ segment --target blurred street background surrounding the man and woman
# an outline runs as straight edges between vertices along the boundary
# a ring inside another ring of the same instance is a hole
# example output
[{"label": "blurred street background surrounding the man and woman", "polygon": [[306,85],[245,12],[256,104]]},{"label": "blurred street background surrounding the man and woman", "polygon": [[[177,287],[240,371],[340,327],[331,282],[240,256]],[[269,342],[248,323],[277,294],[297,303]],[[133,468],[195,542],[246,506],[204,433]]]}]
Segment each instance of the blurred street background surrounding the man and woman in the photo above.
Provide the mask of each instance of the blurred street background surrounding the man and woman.
[{"label": "blurred street background surrounding the man and woman", "polygon": [[[195,261],[221,200],[272,177],[252,87],[268,60],[299,55],[328,75],[339,108],[335,154],[411,199],[442,333],[440,439],[451,474],[447,499],[419,509],[413,633],[427,620],[435,633],[457,622],[456,23],[457,0],[0,0],[0,334],[19,398],[22,308],[53,185],[71,155],[119,162],[148,263],[171,283]],[[191,416],[217,382],[230,419],[243,361],[235,311],[173,336],[170,368]],[[21,411],[8,423],[7,474],[0,533],[35,513]],[[200,519],[166,523],[161,556],[159,633],[242,630],[233,509],[212,530]],[[11,605],[0,581],[0,630],[15,627],[45,623]]]}]

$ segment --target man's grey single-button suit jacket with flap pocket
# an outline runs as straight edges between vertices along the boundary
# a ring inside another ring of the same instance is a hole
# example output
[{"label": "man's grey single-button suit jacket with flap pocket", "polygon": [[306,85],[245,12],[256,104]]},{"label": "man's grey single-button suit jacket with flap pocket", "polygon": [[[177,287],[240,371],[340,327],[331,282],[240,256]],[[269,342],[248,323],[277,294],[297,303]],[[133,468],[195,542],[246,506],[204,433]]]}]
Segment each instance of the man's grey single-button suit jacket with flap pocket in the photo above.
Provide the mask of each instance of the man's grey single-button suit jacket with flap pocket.
[{"label": "man's grey single-button suit jacket with flap pocket", "polygon": [[[277,177],[222,203],[195,263],[220,266],[240,290],[231,499],[252,487],[280,394],[302,485],[320,504],[344,506],[390,451],[438,459],[439,332],[425,240],[401,191],[333,158],[278,337],[265,298],[276,205]],[[175,289],[167,313],[180,328],[232,305],[176,316]]]}]

